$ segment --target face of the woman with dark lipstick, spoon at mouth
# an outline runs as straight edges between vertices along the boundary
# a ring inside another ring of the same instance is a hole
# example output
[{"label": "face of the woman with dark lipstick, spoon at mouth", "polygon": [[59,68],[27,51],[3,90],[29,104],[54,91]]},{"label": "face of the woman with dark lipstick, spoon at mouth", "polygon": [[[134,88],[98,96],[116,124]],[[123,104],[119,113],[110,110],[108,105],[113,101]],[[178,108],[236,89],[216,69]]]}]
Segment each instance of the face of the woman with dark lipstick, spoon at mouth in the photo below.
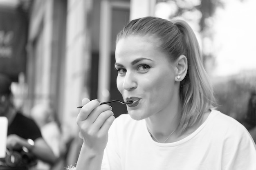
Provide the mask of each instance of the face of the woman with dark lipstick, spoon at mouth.
[{"label": "face of the woman with dark lipstick, spoon at mouth", "polygon": [[117,42],[117,88],[125,101],[134,101],[127,110],[135,120],[168,114],[173,100],[178,99],[175,66],[157,46],[149,36],[130,36]]}]

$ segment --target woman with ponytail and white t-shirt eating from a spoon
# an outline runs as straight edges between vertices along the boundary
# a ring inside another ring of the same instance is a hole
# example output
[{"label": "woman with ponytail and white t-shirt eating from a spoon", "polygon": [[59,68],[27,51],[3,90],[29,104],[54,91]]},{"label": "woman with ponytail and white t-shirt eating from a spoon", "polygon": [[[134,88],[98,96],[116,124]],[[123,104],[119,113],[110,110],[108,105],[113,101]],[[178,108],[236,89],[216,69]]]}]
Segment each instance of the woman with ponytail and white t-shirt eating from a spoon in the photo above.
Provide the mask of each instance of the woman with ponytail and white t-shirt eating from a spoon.
[{"label": "woman with ponytail and white t-shirt eating from a spoon", "polygon": [[132,20],[117,36],[115,57],[117,88],[133,102],[115,119],[111,106],[83,99],[76,169],[256,169],[248,131],[212,108],[213,90],[186,22]]}]

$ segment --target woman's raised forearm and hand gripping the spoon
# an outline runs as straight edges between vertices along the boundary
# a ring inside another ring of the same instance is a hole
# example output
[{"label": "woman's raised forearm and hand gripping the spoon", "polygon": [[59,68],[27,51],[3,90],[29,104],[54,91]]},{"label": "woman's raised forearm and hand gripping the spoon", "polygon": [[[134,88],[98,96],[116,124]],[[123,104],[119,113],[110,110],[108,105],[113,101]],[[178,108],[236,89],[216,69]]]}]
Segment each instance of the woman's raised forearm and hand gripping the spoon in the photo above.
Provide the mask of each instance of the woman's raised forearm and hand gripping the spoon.
[{"label": "woman's raised forearm and hand gripping the spoon", "polygon": [[76,170],[101,170],[103,152],[108,142],[108,130],[113,123],[112,108],[97,100],[83,99],[76,122],[83,136],[83,145]]}]

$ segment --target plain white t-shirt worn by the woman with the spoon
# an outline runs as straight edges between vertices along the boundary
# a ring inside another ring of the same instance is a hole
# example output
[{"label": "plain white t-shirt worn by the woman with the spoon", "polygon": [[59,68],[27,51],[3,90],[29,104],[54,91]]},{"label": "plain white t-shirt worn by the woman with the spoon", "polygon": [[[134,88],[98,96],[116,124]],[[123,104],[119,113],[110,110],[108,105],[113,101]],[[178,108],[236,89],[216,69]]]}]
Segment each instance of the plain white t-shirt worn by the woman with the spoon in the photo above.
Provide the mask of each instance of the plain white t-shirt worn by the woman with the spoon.
[{"label": "plain white t-shirt worn by the woman with the spoon", "polygon": [[235,119],[212,110],[191,135],[173,143],[157,143],[146,121],[128,114],[109,130],[102,170],[256,170],[256,146]]}]

